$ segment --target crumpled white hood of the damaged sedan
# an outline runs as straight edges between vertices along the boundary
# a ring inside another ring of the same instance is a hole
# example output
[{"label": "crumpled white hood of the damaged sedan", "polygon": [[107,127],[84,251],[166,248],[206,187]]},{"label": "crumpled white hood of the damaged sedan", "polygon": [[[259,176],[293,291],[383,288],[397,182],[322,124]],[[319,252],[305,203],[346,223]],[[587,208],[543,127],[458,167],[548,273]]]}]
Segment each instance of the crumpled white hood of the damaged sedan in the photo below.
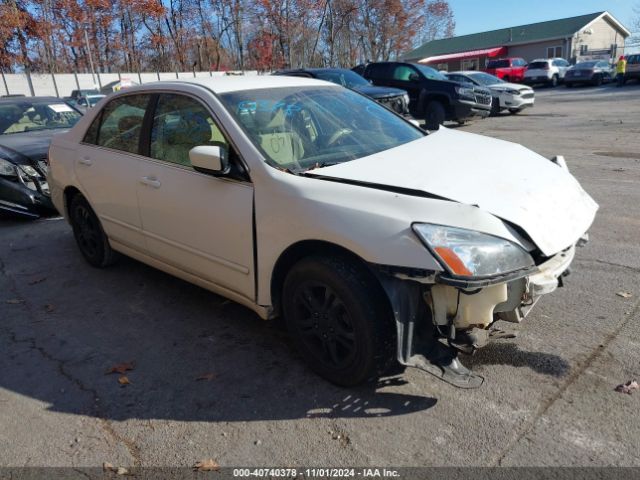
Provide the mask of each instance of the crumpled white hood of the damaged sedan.
[{"label": "crumpled white hood of the damaged sedan", "polygon": [[573,175],[541,155],[516,143],[442,127],[308,175],[418,190],[478,206],[521,227],[547,256],[575,244],[598,209]]}]

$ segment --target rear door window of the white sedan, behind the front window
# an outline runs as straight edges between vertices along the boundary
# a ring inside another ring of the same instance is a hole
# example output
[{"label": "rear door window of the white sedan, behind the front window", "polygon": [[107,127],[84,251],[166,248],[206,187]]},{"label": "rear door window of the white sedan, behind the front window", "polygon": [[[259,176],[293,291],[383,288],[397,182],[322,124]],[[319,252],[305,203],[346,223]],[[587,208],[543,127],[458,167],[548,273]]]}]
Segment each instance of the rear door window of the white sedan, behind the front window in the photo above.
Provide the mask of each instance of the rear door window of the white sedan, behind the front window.
[{"label": "rear door window of the white sedan, behind the front window", "polygon": [[102,112],[96,143],[114,150],[138,153],[142,121],[150,98],[150,95],[127,95],[109,102]]}]

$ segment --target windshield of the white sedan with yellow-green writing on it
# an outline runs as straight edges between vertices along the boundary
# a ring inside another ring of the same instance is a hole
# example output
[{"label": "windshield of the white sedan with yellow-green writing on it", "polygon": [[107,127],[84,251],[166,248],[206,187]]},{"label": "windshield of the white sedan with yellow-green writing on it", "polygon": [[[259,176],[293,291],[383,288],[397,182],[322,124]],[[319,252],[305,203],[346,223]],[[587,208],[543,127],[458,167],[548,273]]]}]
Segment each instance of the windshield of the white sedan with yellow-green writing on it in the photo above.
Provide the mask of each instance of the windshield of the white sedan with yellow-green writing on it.
[{"label": "windshield of the white sedan with yellow-green writing on it", "polygon": [[338,87],[245,90],[220,97],[267,163],[295,173],[373,155],[425,135],[373,100]]}]

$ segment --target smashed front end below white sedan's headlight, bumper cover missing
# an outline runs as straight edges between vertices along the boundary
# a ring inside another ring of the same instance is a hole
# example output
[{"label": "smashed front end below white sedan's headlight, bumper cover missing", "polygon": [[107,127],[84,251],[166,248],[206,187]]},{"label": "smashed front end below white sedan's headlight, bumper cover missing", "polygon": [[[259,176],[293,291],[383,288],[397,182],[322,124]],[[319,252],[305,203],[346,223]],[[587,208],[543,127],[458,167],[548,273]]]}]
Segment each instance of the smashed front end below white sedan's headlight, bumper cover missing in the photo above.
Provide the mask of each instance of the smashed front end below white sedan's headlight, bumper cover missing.
[{"label": "smashed front end below white sedan's headlight, bumper cover missing", "polygon": [[483,378],[465,368],[458,353],[485,346],[496,320],[522,321],[542,295],[563,285],[575,251],[572,246],[534,269],[481,281],[382,275],[396,321],[398,361],[457,387],[479,387]]}]

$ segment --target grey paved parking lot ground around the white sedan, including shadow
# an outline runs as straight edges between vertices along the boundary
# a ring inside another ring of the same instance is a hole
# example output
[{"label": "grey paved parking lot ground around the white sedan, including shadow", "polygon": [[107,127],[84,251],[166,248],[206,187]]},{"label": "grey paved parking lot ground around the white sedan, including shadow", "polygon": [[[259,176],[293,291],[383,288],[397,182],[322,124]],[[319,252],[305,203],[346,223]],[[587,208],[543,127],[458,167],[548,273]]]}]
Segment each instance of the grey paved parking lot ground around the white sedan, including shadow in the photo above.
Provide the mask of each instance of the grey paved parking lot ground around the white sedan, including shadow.
[{"label": "grey paved parking lot ground around the white sedan, including shadow", "polygon": [[[63,220],[0,220],[0,466],[640,466],[640,391],[614,391],[640,377],[638,111],[637,84],[541,89],[461,127],[565,155],[601,207],[566,288],[464,360],[477,390],[335,387],[274,322],[127,258],[93,269]],[[123,362],[128,385],[105,374]]]}]

